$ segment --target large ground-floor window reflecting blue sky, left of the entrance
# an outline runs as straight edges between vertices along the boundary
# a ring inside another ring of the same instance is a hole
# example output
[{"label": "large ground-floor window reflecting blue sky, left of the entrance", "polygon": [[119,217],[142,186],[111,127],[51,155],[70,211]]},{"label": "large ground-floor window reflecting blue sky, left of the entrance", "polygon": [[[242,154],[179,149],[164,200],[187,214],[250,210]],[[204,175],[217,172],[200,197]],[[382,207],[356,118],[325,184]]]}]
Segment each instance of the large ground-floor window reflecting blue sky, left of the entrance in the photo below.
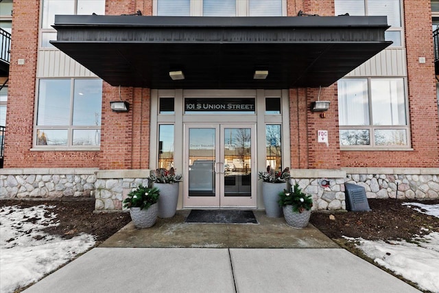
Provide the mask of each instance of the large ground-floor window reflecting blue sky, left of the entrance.
[{"label": "large ground-floor window reflecting blue sky, left of the entrance", "polygon": [[40,79],[35,145],[100,145],[102,80]]}]

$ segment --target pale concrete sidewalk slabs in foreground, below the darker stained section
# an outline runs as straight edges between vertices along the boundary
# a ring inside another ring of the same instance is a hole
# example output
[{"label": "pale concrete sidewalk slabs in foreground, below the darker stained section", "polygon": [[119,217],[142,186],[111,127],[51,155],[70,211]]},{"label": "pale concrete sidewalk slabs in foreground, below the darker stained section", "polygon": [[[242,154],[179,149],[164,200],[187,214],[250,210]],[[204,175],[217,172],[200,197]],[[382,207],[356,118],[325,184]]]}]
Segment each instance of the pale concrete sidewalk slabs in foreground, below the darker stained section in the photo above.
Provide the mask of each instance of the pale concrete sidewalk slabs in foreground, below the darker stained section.
[{"label": "pale concrete sidewalk slabs in foreground, below the darker stained section", "polygon": [[420,292],[342,248],[93,248],[34,292]]}]

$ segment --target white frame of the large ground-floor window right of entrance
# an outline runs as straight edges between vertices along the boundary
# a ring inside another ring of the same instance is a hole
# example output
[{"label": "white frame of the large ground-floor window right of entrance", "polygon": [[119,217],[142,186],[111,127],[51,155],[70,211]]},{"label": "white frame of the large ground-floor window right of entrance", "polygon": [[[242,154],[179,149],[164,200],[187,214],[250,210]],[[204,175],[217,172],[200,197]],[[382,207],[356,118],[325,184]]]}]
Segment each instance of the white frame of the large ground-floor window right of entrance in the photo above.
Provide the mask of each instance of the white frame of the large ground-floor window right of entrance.
[{"label": "white frame of the large ground-floor window right of entrance", "polygon": [[[407,78],[405,77],[390,77],[390,76],[382,76],[382,77],[354,77],[354,78],[343,78],[344,80],[348,79],[364,79],[367,80],[368,85],[368,105],[369,105],[369,124],[368,125],[353,125],[353,126],[345,126],[339,124],[339,131],[342,130],[368,130],[369,131],[369,145],[342,145],[340,141],[340,150],[412,150],[412,139],[410,137],[410,115],[409,115],[409,102],[407,97]],[[371,91],[371,80],[378,79],[399,79],[403,80],[404,85],[404,101],[405,101],[405,125],[374,125],[373,124],[373,116],[372,116],[372,91]],[[407,145],[375,145],[375,130],[405,130]],[[339,132],[339,135],[340,135]]]}]

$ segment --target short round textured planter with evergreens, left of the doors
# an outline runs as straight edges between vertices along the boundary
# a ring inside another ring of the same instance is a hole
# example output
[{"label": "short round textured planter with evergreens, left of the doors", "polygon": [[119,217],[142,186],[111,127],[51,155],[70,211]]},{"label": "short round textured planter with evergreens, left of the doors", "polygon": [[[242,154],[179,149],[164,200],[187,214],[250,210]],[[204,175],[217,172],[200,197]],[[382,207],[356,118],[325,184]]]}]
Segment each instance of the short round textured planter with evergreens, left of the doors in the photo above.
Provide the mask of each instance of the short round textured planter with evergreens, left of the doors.
[{"label": "short round textured planter with evergreens, left of the doors", "polygon": [[128,194],[128,198],[123,200],[123,207],[130,209],[134,226],[149,228],[156,223],[159,197],[157,187],[144,187],[141,184]]}]

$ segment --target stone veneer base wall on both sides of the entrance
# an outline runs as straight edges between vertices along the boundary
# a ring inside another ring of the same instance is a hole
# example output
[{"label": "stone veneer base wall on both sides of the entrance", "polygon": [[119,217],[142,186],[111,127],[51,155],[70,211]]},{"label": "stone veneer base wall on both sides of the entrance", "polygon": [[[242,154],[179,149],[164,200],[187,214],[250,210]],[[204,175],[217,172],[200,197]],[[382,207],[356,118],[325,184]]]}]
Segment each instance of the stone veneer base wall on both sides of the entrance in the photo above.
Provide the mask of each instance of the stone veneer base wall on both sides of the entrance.
[{"label": "stone veneer base wall on both sides of the entrance", "polygon": [[[291,183],[313,197],[313,210],[346,209],[344,183],[364,187],[368,198],[395,198],[396,183],[398,198],[439,198],[439,168],[291,169],[290,173]],[[149,169],[0,169],[0,199],[94,196],[96,211],[120,211],[123,198],[140,183],[147,185],[149,174]],[[329,180],[329,186],[321,186],[322,179]]]}]

